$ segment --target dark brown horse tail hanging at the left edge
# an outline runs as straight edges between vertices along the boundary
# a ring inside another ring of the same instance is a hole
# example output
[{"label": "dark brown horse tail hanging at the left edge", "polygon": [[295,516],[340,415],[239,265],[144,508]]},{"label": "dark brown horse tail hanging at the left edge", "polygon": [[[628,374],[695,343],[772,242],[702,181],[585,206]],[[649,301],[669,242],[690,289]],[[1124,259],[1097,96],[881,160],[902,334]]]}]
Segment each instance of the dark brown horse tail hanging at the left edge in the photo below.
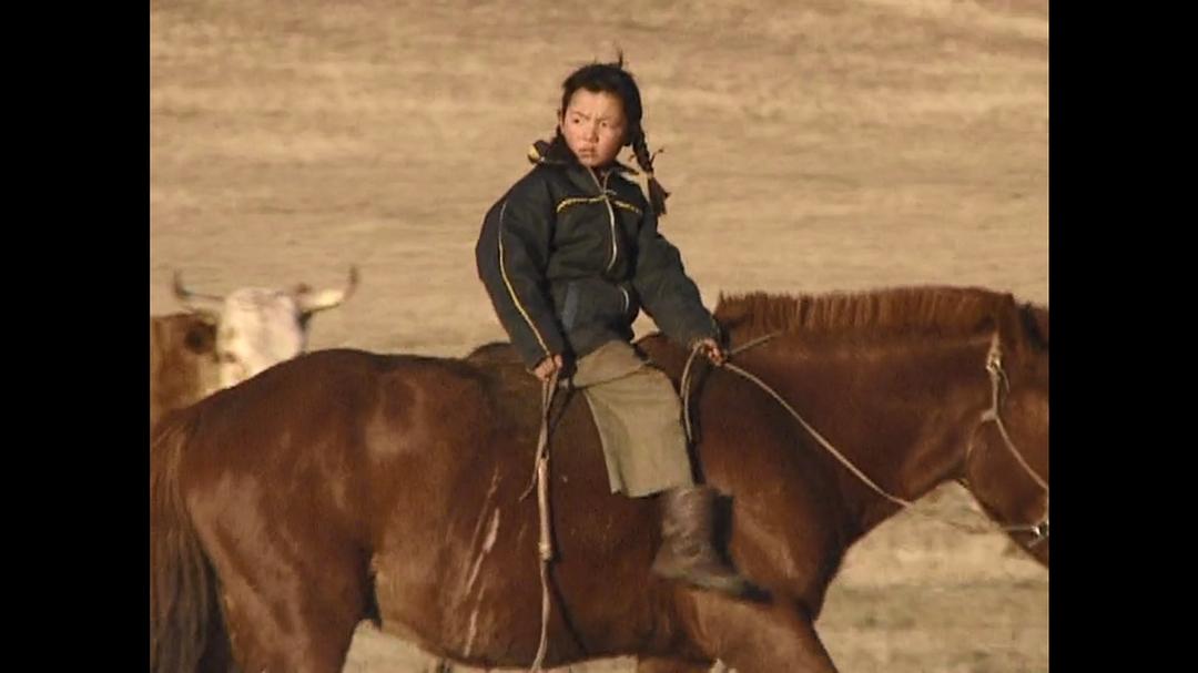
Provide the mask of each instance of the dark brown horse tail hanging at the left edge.
[{"label": "dark brown horse tail hanging at the left edge", "polygon": [[[193,672],[228,636],[212,565],[180,489],[194,413],[176,412],[150,438],[150,671]],[[210,639],[212,638],[212,639]],[[226,645],[225,645],[226,647]]]}]

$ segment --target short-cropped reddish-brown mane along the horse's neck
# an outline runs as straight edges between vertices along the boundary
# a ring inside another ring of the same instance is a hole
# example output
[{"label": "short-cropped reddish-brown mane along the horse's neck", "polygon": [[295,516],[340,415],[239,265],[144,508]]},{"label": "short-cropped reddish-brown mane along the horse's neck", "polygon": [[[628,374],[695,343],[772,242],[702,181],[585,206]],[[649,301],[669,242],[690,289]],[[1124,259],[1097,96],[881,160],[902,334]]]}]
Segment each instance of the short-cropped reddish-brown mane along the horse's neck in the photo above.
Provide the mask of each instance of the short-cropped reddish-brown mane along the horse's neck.
[{"label": "short-cropped reddish-brown mane along the horse's neck", "polygon": [[825,295],[720,295],[715,320],[737,342],[778,332],[870,341],[993,332],[1048,348],[1048,308],[982,287],[912,286]]}]

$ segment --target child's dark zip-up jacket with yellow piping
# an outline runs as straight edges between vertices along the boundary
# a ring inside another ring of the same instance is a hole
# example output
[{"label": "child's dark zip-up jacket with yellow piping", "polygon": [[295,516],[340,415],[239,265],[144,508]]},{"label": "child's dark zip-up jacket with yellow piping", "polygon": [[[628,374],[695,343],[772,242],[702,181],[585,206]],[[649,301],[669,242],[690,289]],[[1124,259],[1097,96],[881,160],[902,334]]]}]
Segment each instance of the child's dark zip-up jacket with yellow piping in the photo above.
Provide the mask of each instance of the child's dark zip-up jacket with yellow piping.
[{"label": "child's dark zip-up jacket with yellow piping", "polygon": [[643,308],[690,347],[719,327],[658,231],[641,190],[616,164],[595,177],[565,141],[538,141],[536,165],[488,211],[474,248],[478,275],[524,362],[583,357],[633,339]]}]

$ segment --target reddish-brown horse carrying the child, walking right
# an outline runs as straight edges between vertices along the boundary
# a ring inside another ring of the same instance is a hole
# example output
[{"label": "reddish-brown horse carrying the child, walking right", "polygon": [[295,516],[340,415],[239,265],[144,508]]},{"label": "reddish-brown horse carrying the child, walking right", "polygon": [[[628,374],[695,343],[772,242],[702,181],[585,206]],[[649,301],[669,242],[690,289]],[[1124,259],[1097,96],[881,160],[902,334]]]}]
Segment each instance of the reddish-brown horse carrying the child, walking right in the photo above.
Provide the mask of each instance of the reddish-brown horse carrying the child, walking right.
[{"label": "reddish-brown horse carrying the child, walking right", "polygon": [[[921,287],[751,295],[716,317],[733,344],[781,332],[733,363],[881,489],[915,499],[958,479],[998,522],[1047,520],[1046,309]],[[660,336],[640,346],[679,378],[686,352]],[[653,577],[655,502],[609,492],[587,405],[558,395],[545,665],[835,671],[812,623],[846,550],[898,505],[756,384],[707,365],[694,381],[701,477],[728,496],[727,548],[768,595]],[[985,420],[996,389],[1002,423]],[[151,668],[338,672],[363,618],[437,656],[528,666],[538,514],[521,493],[539,393],[495,348],[477,362],[340,350],[164,419],[151,447]],[[1047,565],[1041,535],[1011,535]]]}]

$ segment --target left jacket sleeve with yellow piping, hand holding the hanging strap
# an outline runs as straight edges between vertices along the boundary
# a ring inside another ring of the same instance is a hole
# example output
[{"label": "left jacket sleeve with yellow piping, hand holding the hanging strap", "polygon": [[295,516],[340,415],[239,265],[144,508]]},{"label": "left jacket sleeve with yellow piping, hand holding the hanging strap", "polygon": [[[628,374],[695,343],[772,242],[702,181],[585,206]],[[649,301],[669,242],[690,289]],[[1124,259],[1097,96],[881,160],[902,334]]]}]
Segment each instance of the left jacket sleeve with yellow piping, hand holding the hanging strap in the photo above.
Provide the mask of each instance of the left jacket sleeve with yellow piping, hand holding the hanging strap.
[{"label": "left jacket sleeve with yellow piping, hand holding the hanging strap", "polygon": [[486,213],[474,247],[478,277],[530,369],[565,345],[545,280],[552,223],[544,183],[522,180]]}]

